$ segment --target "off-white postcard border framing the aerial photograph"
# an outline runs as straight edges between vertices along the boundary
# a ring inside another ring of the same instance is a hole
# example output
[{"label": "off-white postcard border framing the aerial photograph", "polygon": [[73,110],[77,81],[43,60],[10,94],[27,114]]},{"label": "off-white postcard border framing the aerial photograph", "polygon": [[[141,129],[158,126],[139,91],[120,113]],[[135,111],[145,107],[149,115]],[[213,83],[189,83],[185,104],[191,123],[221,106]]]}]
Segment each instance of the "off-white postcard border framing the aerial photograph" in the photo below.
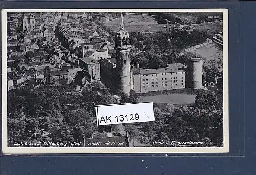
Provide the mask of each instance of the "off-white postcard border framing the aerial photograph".
[{"label": "off-white postcard border framing the aerial photograph", "polygon": [[[7,13],[8,12],[223,12],[223,147],[7,147]],[[228,9],[2,9],[2,153],[228,153]]]}]

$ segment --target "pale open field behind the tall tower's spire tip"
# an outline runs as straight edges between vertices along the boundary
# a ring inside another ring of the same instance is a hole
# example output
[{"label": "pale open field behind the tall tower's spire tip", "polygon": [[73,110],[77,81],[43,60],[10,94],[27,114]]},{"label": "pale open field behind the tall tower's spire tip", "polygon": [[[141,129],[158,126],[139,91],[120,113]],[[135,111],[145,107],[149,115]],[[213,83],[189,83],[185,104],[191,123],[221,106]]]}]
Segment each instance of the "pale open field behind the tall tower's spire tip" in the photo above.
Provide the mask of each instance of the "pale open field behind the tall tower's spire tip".
[{"label": "pale open field behind the tall tower's spire tip", "polygon": [[[127,14],[123,19],[124,28],[128,32],[154,32],[166,30],[166,28],[164,28],[166,24],[158,24],[158,22],[155,21],[155,18],[149,15]],[[113,28],[115,31],[120,29],[120,24],[121,18],[116,18],[105,23],[108,28]]]}]

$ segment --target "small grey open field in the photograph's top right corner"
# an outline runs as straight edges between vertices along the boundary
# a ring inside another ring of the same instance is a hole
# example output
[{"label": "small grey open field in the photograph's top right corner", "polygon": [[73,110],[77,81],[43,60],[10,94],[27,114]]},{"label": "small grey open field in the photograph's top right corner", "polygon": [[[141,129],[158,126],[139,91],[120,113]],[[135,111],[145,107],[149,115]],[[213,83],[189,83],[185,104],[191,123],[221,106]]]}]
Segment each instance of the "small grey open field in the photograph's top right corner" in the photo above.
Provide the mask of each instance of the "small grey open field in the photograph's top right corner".
[{"label": "small grey open field in the photograph's top right corner", "polygon": [[194,24],[192,25],[194,29],[205,30],[209,35],[212,35],[212,32],[222,32],[223,31],[223,21],[214,21],[209,23]]}]

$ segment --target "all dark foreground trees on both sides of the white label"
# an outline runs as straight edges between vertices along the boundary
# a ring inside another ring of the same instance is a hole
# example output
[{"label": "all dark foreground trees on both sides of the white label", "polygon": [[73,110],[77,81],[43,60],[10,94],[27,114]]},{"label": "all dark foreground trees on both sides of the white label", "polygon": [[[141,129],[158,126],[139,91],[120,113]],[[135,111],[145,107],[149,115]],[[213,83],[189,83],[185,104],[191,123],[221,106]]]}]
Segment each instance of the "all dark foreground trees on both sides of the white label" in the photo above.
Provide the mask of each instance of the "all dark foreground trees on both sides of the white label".
[{"label": "all dark foreground trees on both sides of the white label", "polygon": [[[133,91],[113,95],[97,82],[81,93],[49,85],[18,86],[8,91],[8,146],[21,140],[82,142],[83,137],[102,130],[95,124],[95,105],[135,102],[138,99]],[[154,122],[126,125],[131,141],[144,131],[148,143],[203,139],[204,146],[223,146],[223,107],[214,92],[199,93],[191,107],[168,104],[163,110],[155,105],[154,113]]]}]

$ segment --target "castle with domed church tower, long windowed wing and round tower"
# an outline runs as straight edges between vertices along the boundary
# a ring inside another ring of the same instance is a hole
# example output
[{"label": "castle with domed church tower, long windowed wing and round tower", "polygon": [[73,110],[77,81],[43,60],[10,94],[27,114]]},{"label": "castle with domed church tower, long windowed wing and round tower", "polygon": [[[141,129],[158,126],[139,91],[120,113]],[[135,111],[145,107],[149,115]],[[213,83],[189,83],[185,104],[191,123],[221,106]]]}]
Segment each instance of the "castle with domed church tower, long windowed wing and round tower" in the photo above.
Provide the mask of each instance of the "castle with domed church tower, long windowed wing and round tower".
[{"label": "castle with domed church tower, long windowed wing and round tower", "polygon": [[[202,87],[202,58],[190,58],[188,66],[181,63],[167,64],[165,68],[143,69],[132,68],[130,70],[130,39],[124,30],[123,16],[121,29],[115,37],[116,68],[104,59],[100,59],[102,77],[108,75],[113,84],[124,93],[131,90],[135,93],[147,93],[152,91],[164,91],[172,89],[200,89]],[[114,76],[116,75],[116,76]],[[106,78],[106,77],[105,77]],[[106,80],[106,82],[107,82]]]}]

